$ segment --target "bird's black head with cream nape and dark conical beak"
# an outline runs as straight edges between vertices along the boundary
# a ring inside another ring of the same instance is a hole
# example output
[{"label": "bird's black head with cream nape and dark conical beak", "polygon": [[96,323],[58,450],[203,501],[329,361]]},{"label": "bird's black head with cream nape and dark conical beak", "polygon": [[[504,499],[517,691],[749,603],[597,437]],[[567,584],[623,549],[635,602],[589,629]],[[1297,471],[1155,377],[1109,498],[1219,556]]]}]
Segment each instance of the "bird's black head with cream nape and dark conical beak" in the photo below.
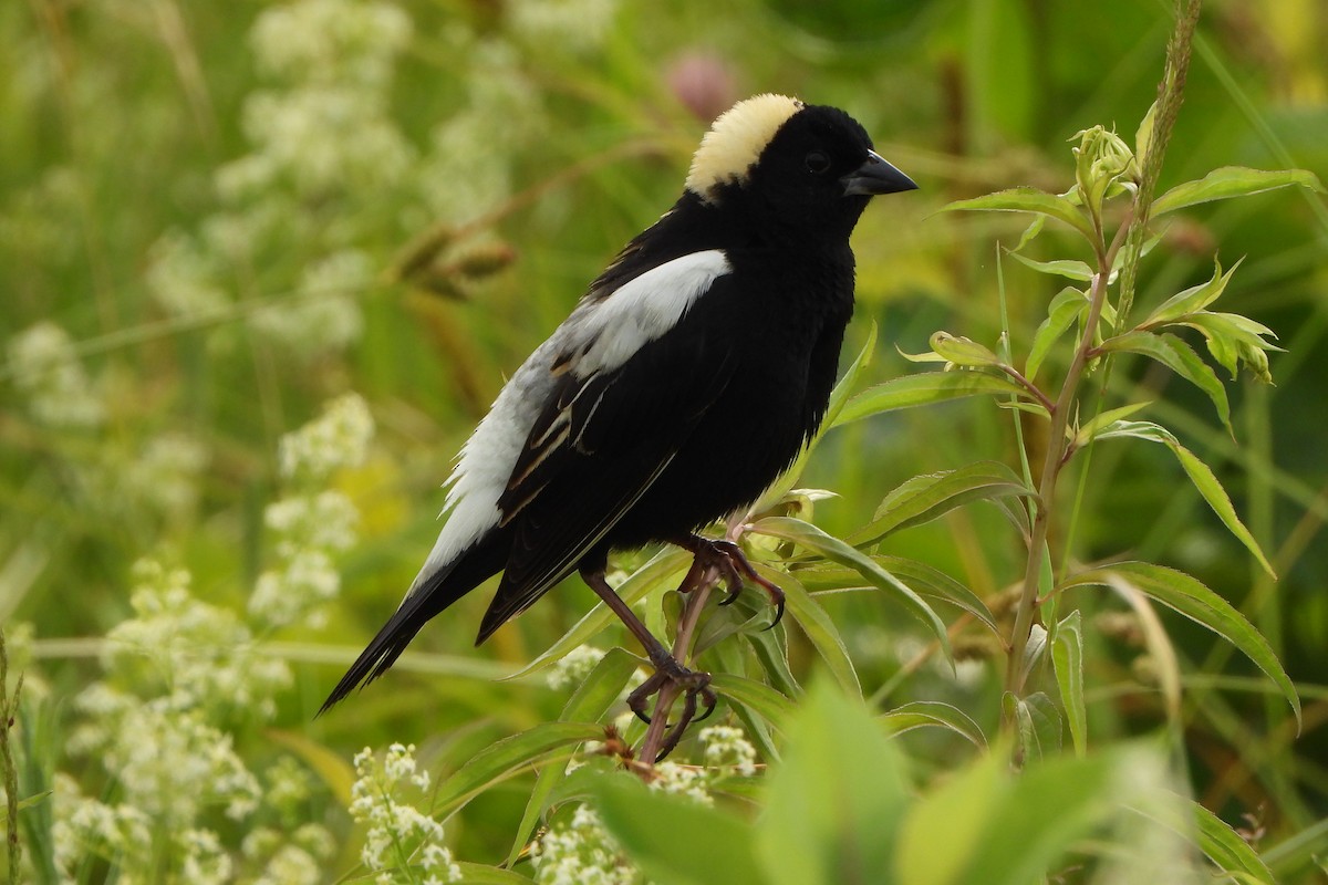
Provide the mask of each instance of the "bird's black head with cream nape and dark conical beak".
[{"label": "bird's black head with cream nape and dark conical beak", "polygon": [[773,94],[720,115],[687,176],[706,206],[831,239],[847,238],[872,196],[916,187],[845,111]]}]

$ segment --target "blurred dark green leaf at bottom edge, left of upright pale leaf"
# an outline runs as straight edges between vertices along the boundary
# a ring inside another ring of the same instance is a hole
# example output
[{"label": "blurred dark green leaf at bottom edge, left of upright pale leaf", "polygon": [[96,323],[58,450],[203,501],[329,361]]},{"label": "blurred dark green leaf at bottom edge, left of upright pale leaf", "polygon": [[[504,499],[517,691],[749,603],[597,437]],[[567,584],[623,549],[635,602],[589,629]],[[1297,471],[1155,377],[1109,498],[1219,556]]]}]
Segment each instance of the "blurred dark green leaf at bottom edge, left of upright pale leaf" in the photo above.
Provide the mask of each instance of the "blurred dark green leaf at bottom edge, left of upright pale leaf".
[{"label": "blurred dark green leaf at bottom edge, left of upright pale leaf", "polygon": [[684,796],[649,789],[627,774],[602,778],[594,793],[604,828],[647,878],[671,885],[765,881],[746,821]]}]

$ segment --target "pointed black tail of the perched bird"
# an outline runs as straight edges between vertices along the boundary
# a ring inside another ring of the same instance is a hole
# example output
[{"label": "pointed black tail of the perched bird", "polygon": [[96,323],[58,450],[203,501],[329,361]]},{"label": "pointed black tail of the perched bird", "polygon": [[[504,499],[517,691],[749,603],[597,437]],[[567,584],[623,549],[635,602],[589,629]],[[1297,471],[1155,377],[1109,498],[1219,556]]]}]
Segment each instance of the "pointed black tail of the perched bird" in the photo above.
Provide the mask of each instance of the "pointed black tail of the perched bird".
[{"label": "pointed black tail of the perched bird", "polygon": [[323,715],[357,687],[363,689],[386,673],[410,645],[420,628],[503,567],[509,547],[509,532],[490,533],[449,565],[430,575],[401,602],[401,608],[393,612],[332,689],[316,715]]}]

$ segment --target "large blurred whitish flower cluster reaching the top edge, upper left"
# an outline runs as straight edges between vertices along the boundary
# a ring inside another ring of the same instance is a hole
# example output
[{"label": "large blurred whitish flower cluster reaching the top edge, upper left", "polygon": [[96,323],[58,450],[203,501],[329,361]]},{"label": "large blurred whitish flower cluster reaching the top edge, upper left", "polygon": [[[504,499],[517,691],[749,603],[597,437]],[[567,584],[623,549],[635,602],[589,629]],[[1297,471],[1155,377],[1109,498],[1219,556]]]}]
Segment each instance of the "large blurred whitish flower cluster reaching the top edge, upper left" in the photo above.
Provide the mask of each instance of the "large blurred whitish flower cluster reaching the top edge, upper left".
[{"label": "large blurred whitish flower cluster reaching the top edge, upper left", "polygon": [[[252,297],[256,284],[280,297],[247,312],[250,324],[291,353],[312,357],[359,338],[355,295],[372,281],[359,244],[400,239],[374,210],[412,190],[418,162],[390,106],[410,36],[409,16],[382,1],[296,0],[258,16],[250,46],[270,88],[244,100],[251,150],[215,171],[222,208],[198,234],[170,231],[153,248],[147,285],[158,304],[177,316],[215,314],[236,287]],[[274,263],[274,251],[295,260]],[[274,269],[235,275],[246,267]],[[293,277],[293,268],[304,269]]]}]

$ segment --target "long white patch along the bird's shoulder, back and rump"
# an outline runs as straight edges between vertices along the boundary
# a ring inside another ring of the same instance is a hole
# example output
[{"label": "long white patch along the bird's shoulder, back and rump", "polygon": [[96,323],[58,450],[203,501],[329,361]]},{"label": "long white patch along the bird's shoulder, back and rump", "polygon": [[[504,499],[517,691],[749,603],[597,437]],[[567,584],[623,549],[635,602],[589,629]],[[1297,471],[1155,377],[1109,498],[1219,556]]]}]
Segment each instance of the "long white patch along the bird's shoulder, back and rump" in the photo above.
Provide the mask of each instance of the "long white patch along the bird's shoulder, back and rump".
[{"label": "long white patch along the bird's shoulder, back and rump", "polygon": [[[710,284],[732,271],[720,249],[693,252],[628,280],[608,296],[582,300],[522,364],[462,446],[457,466],[444,483],[448,500],[441,515],[448,521],[406,598],[501,521],[498,499],[507,488],[535,419],[567,370],[567,354],[572,354],[570,370],[582,379],[620,368],[645,344],[677,325]],[[559,364],[563,368],[555,369]],[[555,421],[550,433],[555,430],[566,434],[567,422]]]}]

